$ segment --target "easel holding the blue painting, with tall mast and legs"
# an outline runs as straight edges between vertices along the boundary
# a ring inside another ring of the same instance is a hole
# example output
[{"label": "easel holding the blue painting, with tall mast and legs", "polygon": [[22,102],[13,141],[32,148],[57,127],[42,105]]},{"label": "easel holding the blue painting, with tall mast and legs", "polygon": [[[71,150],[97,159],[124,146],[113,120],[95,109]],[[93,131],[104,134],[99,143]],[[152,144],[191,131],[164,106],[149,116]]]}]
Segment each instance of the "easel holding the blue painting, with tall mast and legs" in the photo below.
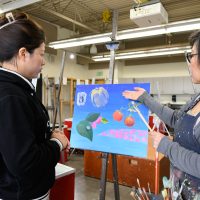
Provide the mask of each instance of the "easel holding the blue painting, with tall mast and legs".
[{"label": "easel holding the blue painting, with tall mast and legs", "polygon": [[[112,37],[111,37],[112,41],[115,41],[115,39],[116,39],[117,18],[118,18],[118,13],[117,13],[117,11],[114,11],[113,12],[113,21],[112,21]],[[113,84],[114,67],[115,67],[115,50],[116,49],[110,48],[109,50],[110,50],[110,55],[111,55],[110,65],[109,65],[109,83]],[[99,200],[105,200],[108,157],[109,157],[109,153],[103,153],[102,154],[102,171],[101,171],[101,180],[100,180],[100,189],[99,189]],[[113,182],[114,182],[115,200],[120,200],[116,154],[111,154],[111,157],[112,157],[112,169],[113,169]]]}]

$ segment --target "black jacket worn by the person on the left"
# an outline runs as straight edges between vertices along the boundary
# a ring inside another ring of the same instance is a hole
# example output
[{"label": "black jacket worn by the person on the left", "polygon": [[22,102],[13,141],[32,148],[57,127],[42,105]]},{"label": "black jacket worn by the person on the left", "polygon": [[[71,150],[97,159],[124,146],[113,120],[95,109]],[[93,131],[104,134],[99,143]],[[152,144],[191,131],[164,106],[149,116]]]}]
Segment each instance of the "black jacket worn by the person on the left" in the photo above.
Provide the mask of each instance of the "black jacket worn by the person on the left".
[{"label": "black jacket worn by the person on the left", "polygon": [[60,149],[48,123],[34,87],[0,68],[0,199],[37,198],[52,187]]}]

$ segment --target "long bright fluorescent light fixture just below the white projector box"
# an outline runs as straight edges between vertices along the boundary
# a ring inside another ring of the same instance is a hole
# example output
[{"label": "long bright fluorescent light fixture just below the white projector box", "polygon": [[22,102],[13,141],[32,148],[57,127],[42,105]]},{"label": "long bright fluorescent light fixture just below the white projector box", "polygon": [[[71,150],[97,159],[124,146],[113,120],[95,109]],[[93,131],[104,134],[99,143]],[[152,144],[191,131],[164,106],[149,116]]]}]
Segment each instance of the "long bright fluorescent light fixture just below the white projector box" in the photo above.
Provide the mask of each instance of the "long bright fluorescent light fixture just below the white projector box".
[{"label": "long bright fluorescent light fixture just below the white projector box", "polygon": [[[145,28],[128,29],[118,31],[116,40],[137,39],[141,37],[149,37],[155,35],[192,31],[200,29],[200,18],[185,20],[179,22],[168,23],[165,25],[151,26]],[[106,43],[111,41],[112,33],[97,34],[87,37],[79,37],[73,39],[60,40],[49,43],[49,46],[55,49],[64,49],[75,46],[83,46],[90,44]]]}]

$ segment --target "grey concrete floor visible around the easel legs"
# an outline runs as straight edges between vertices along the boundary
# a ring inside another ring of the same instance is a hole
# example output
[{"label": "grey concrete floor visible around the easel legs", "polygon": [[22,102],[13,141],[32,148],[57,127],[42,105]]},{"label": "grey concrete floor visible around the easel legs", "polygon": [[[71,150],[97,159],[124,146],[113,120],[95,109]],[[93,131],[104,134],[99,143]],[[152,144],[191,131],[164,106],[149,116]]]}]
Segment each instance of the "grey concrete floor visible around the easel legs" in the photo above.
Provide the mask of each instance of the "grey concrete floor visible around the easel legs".
[{"label": "grey concrete floor visible around the easel legs", "polygon": [[[70,156],[67,166],[76,169],[75,173],[75,200],[98,200],[100,180],[84,176],[83,155],[74,153]],[[131,188],[119,186],[120,200],[131,200]],[[105,200],[114,200],[114,185],[107,182]]]}]

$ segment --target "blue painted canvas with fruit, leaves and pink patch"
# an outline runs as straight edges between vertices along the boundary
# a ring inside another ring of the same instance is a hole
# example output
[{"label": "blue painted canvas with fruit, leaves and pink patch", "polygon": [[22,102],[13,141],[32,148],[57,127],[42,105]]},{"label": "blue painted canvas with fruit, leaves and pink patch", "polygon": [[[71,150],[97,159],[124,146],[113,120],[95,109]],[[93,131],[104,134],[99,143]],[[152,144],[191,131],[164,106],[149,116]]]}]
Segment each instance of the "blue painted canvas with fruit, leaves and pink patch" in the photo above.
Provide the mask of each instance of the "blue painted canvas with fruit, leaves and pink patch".
[{"label": "blue painted canvas with fruit, leaves and pink patch", "polygon": [[71,130],[71,147],[147,157],[148,129],[135,111],[148,121],[148,108],[125,99],[124,90],[149,83],[77,85]]}]

